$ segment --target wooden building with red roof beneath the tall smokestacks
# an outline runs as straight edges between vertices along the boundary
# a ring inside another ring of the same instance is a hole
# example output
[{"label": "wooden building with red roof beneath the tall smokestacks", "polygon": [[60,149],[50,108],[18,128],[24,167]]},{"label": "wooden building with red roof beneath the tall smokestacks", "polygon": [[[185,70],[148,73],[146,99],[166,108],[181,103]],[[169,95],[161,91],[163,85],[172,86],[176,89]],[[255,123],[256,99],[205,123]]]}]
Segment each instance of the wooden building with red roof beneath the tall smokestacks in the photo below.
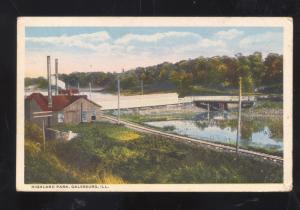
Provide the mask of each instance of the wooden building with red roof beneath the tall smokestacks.
[{"label": "wooden building with red roof beneath the tall smokestacks", "polygon": [[38,124],[41,118],[34,118],[36,112],[52,111],[52,116],[46,120],[46,125],[57,123],[91,122],[99,116],[101,106],[89,100],[86,95],[56,95],[52,96],[52,106],[49,106],[48,96],[32,93],[25,98],[25,119]]}]

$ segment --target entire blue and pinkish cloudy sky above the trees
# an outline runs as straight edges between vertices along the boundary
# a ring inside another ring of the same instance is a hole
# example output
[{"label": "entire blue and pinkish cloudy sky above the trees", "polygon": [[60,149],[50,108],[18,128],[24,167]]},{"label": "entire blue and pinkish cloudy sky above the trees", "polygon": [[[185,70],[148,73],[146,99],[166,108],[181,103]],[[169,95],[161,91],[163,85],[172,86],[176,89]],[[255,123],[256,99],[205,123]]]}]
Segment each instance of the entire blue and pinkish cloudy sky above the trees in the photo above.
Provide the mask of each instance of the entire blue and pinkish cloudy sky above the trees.
[{"label": "entire blue and pinkish cloudy sky above the trees", "polygon": [[199,56],[282,54],[281,27],[26,27],[26,77],[46,76],[46,56],[59,73],[121,72]]}]

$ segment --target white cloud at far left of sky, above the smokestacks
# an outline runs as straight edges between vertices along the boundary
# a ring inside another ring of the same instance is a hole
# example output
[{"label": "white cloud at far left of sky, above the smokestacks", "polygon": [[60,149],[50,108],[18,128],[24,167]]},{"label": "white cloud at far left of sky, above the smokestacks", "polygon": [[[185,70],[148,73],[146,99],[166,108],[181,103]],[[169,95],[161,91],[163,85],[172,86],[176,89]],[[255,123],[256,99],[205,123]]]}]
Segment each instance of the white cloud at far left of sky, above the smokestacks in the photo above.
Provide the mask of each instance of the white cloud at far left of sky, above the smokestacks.
[{"label": "white cloud at far left of sky, above the smokestacks", "polygon": [[106,31],[95,33],[78,34],[72,36],[47,36],[47,37],[26,37],[26,42],[41,45],[59,45],[66,47],[79,47],[83,49],[97,49],[97,46],[110,39]]}]

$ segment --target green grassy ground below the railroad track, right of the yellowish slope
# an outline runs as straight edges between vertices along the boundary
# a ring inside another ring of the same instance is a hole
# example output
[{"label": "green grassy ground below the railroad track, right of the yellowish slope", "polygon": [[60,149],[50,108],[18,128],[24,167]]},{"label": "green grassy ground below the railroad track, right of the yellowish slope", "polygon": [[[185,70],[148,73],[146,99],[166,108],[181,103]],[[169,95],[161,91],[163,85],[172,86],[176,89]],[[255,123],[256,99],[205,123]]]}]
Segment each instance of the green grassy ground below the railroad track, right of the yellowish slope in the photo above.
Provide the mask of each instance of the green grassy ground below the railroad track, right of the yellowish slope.
[{"label": "green grassy ground below the railroad track, right of the yellowish slope", "polygon": [[100,177],[111,173],[128,183],[282,181],[282,167],[269,162],[243,156],[236,158],[235,154],[136,131],[139,138],[134,141],[119,140],[117,134],[111,136],[133,132],[121,125],[61,124],[57,128],[78,132],[81,138],[57,144],[53,153],[71,167]]}]

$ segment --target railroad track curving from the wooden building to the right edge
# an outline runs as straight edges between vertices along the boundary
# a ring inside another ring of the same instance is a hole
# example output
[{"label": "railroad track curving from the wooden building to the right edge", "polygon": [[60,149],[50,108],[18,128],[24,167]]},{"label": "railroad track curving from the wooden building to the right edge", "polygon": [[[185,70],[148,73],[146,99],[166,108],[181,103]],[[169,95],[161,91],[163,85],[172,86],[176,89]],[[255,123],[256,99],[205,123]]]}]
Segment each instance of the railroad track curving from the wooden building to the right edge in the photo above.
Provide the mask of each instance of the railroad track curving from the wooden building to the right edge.
[{"label": "railroad track curving from the wooden building to the right edge", "polygon": [[[118,119],[116,117],[102,115],[102,118],[113,121],[113,122],[118,122]],[[187,141],[187,142],[202,144],[202,145],[205,145],[207,147],[212,147],[212,148],[218,149],[218,150],[226,150],[226,151],[229,151],[229,152],[236,152],[235,147],[228,146],[228,145],[222,145],[222,144],[208,142],[208,141],[204,141],[204,140],[200,140],[200,139],[194,139],[194,138],[190,138],[190,137],[186,137],[186,136],[180,136],[180,135],[176,135],[176,134],[166,133],[166,132],[163,132],[163,131],[159,131],[159,130],[156,130],[156,129],[153,129],[153,128],[148,128],[148,127],[145,127],[145,126],[141,126],[139,124],[132,123],[132,122],[125,121],[125,120],[120,120],[119,123],[121,123],[121,124],[123,124],[127,127],[131,127],[131,128],[136,129],[136,130],[144,131],[144,132],[151,133],[151,134],[156,134],[156,135],[160,135],[160,136],[164,136],[164,137],[168,137],[168,138],[172,138],[172,139],[184,140],[184,141]],[[283,163],[283,158],[279,157],[279,156],[275,156],[275,155],[269,155],[269,154],[266,154],[266,153],[255,152],[255,151],[251,151],[251,150],[247,150],[247,149],[239,149],[238,152],[239,152],[239,154],[245,154],[245,155],[253,156],[253,157],[260,157],[260,158],[263,158],[265,160],[271,160],[271,161],[274,161],[274,162]]]}]

